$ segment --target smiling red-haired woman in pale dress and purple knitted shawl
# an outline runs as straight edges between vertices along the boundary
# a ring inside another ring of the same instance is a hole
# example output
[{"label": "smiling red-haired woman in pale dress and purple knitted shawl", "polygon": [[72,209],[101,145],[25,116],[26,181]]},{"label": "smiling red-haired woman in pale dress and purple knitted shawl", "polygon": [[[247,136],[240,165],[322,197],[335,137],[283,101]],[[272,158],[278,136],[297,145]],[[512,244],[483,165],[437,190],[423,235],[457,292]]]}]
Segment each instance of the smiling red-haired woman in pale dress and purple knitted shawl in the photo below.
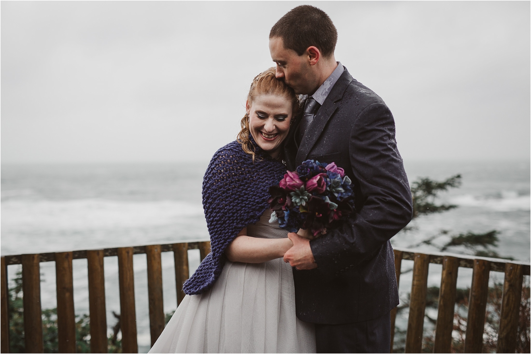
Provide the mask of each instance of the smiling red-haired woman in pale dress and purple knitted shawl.
[{"label": "smiling red-haired woman in pale dress and purple knitted shawl", "polygon": [[282,143],[298,98],[256,76],[237,140],[219,149],[203,179],[212,252],[184,283],[187,294],[150,353],[315,352],[313,324],[295,315],[288,232],[269,223],[269,187],[284,176]]}]

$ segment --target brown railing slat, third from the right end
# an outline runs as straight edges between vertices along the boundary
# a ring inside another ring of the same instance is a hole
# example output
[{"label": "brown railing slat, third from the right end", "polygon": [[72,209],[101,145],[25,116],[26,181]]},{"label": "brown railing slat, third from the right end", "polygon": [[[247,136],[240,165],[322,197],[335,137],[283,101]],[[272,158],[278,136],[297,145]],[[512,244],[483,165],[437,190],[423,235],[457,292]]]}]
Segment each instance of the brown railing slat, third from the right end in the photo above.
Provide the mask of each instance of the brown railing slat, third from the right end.
[{"label": "brown railing slat, third from the right end", "polygon": [[453,310],[456,305],[457,271],[459,260],[444,256],[442,260],[441,288],[437,324],[435,326],[435,353],[449,353],[452,344]]}]

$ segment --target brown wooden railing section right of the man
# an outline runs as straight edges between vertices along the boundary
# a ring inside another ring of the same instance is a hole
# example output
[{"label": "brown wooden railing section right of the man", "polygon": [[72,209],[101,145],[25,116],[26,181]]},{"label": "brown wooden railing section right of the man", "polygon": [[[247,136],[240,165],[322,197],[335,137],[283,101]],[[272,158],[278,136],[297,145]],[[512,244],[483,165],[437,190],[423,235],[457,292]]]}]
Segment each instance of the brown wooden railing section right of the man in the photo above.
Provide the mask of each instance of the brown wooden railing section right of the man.
[{"label": "brown wooden railing section right of the man", "polygon": [[[427,279],[430,263],[442,264],[434,352],[450,352],[459,267],[473,269],[472,284],[470,285],[468,297],[465,353],[482,352],[485,309],[491,271],[505,273],[496,352],[515,352],[522,282],[523,276],[529,275],[529,263],[460,254],[413,253],[406,249],[395,249],[395,271],[398,281],[400,280],[402,260],[414,261],[406,332],[406,353],[420,353],[422,351],[424,311],[426,309]],[[396,308],[391,312],[391,351],[396,312]]]}]

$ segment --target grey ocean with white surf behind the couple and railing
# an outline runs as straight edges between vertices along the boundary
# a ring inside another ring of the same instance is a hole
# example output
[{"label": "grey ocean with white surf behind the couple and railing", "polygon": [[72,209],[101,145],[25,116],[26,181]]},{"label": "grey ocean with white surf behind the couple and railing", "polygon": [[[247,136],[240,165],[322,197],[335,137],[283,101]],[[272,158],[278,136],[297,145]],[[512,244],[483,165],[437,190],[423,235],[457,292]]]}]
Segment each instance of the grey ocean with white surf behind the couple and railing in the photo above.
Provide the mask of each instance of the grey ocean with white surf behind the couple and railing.
[{"label": "grey ocean with white surf behind the couple and railing", "polygon": [[[202,176],[208,161],[196,163],[123,163],[70,165],[2,165],[2,255],[96,249],[208,240],[201,206]],[[409,182],[419,177],[442,180],[461,174],[463,185],[441,194],[439,201],[458,208],[419,217],[415,228],[399,232],[393,247],[407,248],[446,234],[419,251],[437,251],[452,235],[498,230],[495,251],[530,260],[529,161],[405,162]],[[466,253],[465,248],[448,252]],[[150,346],[145,255],[135,255],[135,300],[140,352]],[[189,251],[191,273],[199,251]],[[404,261],[402,270],[411,267]],[[411,262],[412,263],[412,262]],[[164,308],[176,307],[173,254],[162,254]],[[88,313],[87,261],[74,260],[74,303]],[[8,267],[13,279],[19,266]],[[107,321],[119,313],[116,257],[105,258]],[[56,306],[54,262],[41,263],[42,308]],[[471,270],[460,270],[459,283],[470,283]],[[494,274],[491,273],[491,274]],[[401,297],[410,289],[410,273],[400,279]],[[502,273],[493,279],[502,280]],[[440,266],[430,267],[429,282],[438,285]],[[408,288],[409,287],[409,288]]]}]

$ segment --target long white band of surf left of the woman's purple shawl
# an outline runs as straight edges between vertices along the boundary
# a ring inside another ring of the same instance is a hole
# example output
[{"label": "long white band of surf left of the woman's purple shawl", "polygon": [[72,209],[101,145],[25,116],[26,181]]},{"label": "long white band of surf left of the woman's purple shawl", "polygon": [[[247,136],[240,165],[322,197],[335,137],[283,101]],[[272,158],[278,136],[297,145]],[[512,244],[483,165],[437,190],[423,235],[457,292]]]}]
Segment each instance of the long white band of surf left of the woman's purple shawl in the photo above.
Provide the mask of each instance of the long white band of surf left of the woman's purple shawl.
[{"label": "long white band of surf left of the woman's purple shawl", "polygon": [[8,200],[1,208],[3,229],[123,229],[172,225],[203,217],[201,204],[182,201]]}]

